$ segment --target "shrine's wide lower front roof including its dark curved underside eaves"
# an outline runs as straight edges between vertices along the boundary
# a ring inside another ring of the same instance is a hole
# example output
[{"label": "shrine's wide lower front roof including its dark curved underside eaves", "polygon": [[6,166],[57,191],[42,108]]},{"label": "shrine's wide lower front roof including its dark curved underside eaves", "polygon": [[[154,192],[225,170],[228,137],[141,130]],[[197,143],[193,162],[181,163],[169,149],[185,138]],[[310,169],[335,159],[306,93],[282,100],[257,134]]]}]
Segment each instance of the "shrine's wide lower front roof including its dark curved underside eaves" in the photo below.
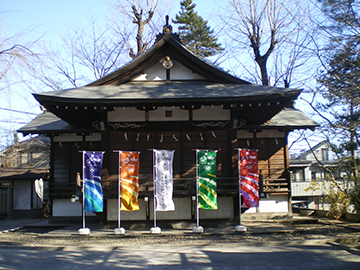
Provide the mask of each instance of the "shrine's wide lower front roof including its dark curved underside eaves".
[{"label": "shrine's wide lower front roof including its dark curved underside eaves", "polygon": [[291,107],[301,90],[259,85],[189,82],[142,82],[119,86],[86,86],[66,91],[34,94],[50,112],[73,126],[105,121],[119,107],[155,110],[175,106],[196,110],[201,106],[231,109],[235,118],[262,124],[285,107]]}]

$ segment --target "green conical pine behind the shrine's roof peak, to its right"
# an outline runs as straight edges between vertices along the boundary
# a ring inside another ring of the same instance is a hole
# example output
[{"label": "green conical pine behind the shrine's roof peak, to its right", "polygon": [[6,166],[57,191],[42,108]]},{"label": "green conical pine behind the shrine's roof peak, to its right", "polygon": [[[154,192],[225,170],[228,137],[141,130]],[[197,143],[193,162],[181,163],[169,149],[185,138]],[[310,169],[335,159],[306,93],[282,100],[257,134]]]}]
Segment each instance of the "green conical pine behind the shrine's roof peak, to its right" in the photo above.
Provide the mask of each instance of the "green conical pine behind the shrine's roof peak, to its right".
[{"label": "green conical pine behind the shrine's roof peak, to its right", "polygon": [[183,0],[180,6],[181,11],[173,23],[180,25],[179,35],[185,47],[200,57],[213,56],[223,51],[221,44],[217,43],[214,30],[194,11],[196,4],[192,0]]}]

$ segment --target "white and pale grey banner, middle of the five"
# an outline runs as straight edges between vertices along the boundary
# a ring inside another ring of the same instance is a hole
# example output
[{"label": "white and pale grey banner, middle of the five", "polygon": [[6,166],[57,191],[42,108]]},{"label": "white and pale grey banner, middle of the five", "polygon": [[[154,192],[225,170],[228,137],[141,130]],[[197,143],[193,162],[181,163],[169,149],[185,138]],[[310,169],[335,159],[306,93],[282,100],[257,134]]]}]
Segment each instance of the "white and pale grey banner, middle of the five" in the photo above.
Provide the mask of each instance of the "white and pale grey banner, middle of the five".
[{"label": "white and pale grey banner, middle of the five", "polygon": [[155,153],[155,211],[174,211],[173,159],[174,150],[154,150]]}]

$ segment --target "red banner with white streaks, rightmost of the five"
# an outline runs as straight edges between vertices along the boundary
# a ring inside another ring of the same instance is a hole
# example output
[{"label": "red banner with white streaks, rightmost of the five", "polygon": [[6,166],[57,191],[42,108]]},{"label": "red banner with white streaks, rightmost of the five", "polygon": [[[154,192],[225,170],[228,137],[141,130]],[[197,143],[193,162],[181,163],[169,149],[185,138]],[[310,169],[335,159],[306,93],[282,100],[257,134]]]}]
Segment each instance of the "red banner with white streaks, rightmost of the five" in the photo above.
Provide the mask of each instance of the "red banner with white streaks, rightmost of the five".
[{"label": "red banner with white streaks, rightmost of the five", "polygon": [[242,208],[259,206],[258,150],[239,149]]}]

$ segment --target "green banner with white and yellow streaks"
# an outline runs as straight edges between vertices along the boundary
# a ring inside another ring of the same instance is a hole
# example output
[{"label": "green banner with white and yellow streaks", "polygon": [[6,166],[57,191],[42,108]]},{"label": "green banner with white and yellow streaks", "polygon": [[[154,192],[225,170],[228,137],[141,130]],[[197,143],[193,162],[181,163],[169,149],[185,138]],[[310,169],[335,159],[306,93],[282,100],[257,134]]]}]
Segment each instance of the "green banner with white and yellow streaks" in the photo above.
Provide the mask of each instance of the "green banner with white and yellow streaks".
[{"label": "green banner with white and yellow streaks", "polygon": [[217,209],[216,151],[198,150],[199,208]]}]

